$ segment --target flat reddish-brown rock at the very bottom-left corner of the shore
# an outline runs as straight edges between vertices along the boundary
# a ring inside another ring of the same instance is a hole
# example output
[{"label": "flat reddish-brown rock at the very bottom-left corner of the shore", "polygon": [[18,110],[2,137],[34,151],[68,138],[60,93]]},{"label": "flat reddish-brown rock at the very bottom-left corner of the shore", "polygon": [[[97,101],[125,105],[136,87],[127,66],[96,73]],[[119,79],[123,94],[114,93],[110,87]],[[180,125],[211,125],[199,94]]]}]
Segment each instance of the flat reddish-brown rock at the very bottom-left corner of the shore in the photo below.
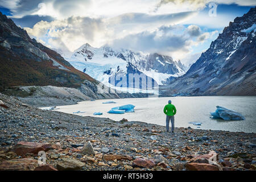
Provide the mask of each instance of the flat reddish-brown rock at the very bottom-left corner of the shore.
[{"label": "flat reddish-brown rock at the very bottom-left corner of the shore", "polygon": [[0,163],[0,171],[33,171],[38,160],[31,158],[5,160]]}]

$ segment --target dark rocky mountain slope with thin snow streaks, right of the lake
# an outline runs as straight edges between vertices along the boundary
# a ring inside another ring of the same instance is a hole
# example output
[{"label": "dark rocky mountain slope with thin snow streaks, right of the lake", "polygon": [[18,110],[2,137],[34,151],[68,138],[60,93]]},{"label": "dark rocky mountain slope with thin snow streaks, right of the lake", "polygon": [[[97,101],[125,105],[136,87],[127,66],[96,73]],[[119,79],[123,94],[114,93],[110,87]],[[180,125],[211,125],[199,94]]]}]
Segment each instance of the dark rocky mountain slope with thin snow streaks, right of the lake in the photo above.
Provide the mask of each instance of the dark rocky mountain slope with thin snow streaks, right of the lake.
[{"label": "dark rocky mountain slope with thin snow streaks, right of the lake", "polygon": [[161,88],[162,96],[256,95],[256,10],[230,22],[185,75]]}]

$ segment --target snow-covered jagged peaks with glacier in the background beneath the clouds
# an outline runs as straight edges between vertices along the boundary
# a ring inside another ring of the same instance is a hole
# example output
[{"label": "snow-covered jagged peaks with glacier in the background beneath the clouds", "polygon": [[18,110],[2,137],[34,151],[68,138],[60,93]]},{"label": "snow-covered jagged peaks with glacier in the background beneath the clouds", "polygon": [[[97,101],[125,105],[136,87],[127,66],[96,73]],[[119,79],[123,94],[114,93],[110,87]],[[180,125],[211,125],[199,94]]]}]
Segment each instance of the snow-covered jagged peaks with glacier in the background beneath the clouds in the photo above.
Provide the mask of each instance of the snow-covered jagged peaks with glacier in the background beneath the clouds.
[{"label": "snow-covered jagged peaks with glacier in the background beneath the clouds", "polygon": [[[168,78],[185,73],[185,65],[180,61],[174,61],[170,56],[158,53],[146,55],[127,49],[113,49],[109,46],[94,48],[88,43],[77,49],[67,60],[80,71],[113,86],[121,85],[118,84],[119,77],[124,77],[126,86],[133,87],[129,85],[129,73],[138,73],[147,80],[151,79],[155,85],[163,85]],[[126,87],[124,84],[122,86]],[[142,89],[143,86],[134,87]]]}]

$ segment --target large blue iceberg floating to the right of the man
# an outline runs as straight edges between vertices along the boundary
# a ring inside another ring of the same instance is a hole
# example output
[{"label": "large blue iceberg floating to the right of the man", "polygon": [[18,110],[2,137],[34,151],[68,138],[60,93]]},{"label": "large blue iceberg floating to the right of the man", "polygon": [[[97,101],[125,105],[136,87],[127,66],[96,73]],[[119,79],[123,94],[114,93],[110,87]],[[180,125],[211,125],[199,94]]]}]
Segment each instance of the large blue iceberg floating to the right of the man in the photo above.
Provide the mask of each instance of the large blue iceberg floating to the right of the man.
[{"label": "large blue iceberg floating to the right of the man", "polygon": [[245,117],[241,113],[238,113],[234,110],[226,109],[225,107],[216,106],[217,109],[215,112],[210,113],[212,119],[224,119],[225,121],[231,120],[245,120]]}]

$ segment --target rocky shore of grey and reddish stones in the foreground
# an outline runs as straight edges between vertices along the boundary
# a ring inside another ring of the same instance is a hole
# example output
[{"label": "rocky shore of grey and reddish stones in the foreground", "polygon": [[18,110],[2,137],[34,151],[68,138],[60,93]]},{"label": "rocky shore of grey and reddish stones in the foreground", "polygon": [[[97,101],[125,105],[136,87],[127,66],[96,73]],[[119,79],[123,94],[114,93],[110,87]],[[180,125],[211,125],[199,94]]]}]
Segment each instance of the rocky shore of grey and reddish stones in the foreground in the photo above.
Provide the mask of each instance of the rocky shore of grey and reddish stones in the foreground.
[{"label": "rocky shore of grey and reddish stones in the foreground", "polygon": [[0,127],[0,170],[256,170],[254,133],[172,134],[144,122],[40,110],[4,94]]}]

